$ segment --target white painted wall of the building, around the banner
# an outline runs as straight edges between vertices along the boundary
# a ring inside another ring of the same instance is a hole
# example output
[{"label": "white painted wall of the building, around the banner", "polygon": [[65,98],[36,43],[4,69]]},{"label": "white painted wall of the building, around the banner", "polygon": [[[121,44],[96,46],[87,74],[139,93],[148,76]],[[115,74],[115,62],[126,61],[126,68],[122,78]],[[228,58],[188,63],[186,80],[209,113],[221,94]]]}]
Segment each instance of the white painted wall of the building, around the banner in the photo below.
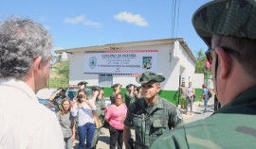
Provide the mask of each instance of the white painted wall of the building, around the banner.
[{"label": "white painted wall of the building, around the banner", "polygon": [[[155,73],[166,77],[166,80],[161,83],[162,89],[166,91],[177,91],[180,72],[183,72],[182,76],[185,77],[186,83],[194,72],[195,64],[178,41],[173,44],[137,46],[120,48],[119,50],[158,50],[157,72]],[[171,61],[170,56],[172,57]],[[82,80],[86,80],[88,86],[99,84],[99,75],[83,74],[84,52],[67,54],[67,58],[70,59],[69,84],[76,85]],[[129,83],[139,85],[137,84],[136,76],[131,75],[113,75],[113,84],[115,83],[120,83],[123,87]]]}]

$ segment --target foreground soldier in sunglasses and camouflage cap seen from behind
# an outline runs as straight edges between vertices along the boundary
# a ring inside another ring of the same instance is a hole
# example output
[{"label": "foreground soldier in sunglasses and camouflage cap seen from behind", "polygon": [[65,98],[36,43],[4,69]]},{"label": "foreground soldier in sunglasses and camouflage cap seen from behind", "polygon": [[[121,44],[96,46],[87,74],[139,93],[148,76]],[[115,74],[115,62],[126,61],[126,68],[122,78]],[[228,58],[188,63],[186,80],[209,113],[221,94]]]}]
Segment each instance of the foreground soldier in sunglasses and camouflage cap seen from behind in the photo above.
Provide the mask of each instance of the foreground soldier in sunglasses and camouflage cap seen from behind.
[{"label": "foreground soldier in sunglasses and camouflage cap seen from behind", "polygon": [[256,1],[214,0],[196,10],[192,24],[211,47],[206,54],[222,107],[165,133],[152,148],[256,148]]}]

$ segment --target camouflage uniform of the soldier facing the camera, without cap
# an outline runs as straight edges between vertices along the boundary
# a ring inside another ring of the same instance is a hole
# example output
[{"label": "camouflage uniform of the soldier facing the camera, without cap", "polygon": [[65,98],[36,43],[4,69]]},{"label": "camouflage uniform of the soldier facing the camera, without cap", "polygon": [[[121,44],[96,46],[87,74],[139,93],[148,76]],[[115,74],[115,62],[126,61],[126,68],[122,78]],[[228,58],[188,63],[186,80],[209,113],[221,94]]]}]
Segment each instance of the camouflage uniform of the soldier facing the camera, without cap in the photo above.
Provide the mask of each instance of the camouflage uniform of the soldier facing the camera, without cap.
[{"label": "camouflage uniform of the soldier facing the camera, without cap", "polygon": [[166,99],[158,97],[151,107],[144,99],[130,105],[124,124],[135,126],[137,147],[148,148],[160,135],[182,122],[179,109]]}]

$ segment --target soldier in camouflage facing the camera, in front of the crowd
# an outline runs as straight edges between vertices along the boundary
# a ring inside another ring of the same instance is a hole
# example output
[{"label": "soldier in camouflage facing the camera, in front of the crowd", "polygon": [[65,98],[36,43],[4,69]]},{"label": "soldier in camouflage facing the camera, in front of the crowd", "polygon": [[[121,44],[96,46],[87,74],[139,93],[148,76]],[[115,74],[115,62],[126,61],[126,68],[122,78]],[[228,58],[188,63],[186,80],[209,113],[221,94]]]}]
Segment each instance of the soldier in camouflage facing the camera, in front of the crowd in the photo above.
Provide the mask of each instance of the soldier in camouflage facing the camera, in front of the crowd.
[{"label": "soldier in camouflage facing the camera, in front of the crowd", "polygon": [[136,131],[135,148],[149,148],[164,132],[183,122],[182,114],[171,102],[158,95],[160,82],[165,80],[163,75],[145,72],[137,76],[141,84],[143,98],[134,102],[127,111],[124,121],[123,137],[126,148],[131,138],[130,128]]}]

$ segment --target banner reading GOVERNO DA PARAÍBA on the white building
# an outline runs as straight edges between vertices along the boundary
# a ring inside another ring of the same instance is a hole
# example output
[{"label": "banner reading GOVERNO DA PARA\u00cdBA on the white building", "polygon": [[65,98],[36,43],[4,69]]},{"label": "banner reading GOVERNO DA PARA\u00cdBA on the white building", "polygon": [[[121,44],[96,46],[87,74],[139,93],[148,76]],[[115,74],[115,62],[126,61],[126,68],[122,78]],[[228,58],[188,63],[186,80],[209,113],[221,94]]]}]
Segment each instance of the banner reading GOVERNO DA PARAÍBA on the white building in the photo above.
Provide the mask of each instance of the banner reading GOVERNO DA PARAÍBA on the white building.
[{"label": "banner reading GOVERNO DA PARA\u00cdBA on the white building", "polygon": [[140,75],[156,72],[158,50],[89,51],[84,54],[84,73]]}]

